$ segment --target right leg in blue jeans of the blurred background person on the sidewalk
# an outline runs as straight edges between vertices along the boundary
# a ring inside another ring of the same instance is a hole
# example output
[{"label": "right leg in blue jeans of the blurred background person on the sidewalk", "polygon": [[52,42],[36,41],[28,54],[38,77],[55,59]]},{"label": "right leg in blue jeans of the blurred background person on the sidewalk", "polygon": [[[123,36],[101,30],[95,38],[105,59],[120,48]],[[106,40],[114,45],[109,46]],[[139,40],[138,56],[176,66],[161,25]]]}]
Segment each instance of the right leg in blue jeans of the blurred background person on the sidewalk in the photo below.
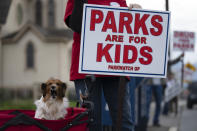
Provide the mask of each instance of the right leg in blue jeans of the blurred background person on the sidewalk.
[{"label": "right leg in blue jeans of the blurred background person on the sidewalk", "polygon": [[154,94],[155,94],[155,115],[153,119],[153,124],[158,125],[159,124],[159,116],[161,112],[161,102],[162,102],[162,86],[154,86]]}]

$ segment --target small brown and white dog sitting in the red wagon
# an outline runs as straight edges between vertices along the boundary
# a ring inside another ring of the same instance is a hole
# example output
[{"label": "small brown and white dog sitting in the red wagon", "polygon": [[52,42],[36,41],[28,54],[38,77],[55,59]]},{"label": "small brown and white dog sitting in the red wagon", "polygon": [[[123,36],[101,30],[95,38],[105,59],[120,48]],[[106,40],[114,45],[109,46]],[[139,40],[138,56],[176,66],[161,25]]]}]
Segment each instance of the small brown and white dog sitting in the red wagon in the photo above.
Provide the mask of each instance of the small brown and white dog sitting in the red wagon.
[{"label": "small brown and white dog sitting in the red wagon", "polygon": [[35,101],[35,118],[45,120],[64,119],[68,99],[65,97],[66,84],[58,79],[49,79],[41,84],[42,97]]}]

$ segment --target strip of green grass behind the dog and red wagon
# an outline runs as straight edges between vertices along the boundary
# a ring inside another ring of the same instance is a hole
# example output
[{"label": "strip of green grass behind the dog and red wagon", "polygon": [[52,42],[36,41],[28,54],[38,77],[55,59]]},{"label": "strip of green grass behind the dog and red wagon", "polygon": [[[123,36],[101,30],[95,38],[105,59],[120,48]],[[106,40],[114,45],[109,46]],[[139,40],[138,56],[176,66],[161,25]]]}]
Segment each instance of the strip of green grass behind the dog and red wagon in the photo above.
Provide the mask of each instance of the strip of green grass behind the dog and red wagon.
[{"label": "strip of green grass behind the dog and red wagon", "polygon": [[[69,106],[76,107],[76,102],[69,102]],[[9,109],[35,110],[36,106],[34,105],[33,99],[0,101],[0,110]]]}]

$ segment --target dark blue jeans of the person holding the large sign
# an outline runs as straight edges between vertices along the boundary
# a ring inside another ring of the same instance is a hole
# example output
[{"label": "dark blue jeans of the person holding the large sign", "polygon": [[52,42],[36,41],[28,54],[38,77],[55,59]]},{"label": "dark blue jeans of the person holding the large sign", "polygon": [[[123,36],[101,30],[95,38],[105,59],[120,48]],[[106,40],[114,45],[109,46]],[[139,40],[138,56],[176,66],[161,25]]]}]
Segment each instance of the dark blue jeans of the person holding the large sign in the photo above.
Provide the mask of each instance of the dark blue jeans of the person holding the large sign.
[{"label": "dark blue jeans of the person holding the large sign", "polygon": [[[90,125],[90,131],[102,131],[102,111],[101,111],[101,93],[103,94],[109,106],[112,118],[112,126],[116,127],[118,112],[118,89],[120,77],[102,77],[96,78],[94,82],[88,84],[90,92],[89,99],[94,103],[93,117],[94,123]],[[125,94],[122,107],[122,131],[133,131],[134,125],[131,121],[131,104],[130,104],[129,85],[126,84]]]}]

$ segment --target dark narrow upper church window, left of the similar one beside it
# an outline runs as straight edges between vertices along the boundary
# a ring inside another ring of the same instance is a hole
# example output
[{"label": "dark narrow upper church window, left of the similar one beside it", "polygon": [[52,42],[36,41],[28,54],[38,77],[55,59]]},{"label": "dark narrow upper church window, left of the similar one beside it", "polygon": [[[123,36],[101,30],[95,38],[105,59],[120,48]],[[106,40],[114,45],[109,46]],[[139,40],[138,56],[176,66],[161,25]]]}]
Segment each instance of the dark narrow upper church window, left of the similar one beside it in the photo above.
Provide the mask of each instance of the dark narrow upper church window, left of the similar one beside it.
[{"label": "dark narrow upper church window, left of the similar one beside it", "polygon": [[42,26],[42,2],[41,0],[36,0],[35,5],[35,23]]}]

